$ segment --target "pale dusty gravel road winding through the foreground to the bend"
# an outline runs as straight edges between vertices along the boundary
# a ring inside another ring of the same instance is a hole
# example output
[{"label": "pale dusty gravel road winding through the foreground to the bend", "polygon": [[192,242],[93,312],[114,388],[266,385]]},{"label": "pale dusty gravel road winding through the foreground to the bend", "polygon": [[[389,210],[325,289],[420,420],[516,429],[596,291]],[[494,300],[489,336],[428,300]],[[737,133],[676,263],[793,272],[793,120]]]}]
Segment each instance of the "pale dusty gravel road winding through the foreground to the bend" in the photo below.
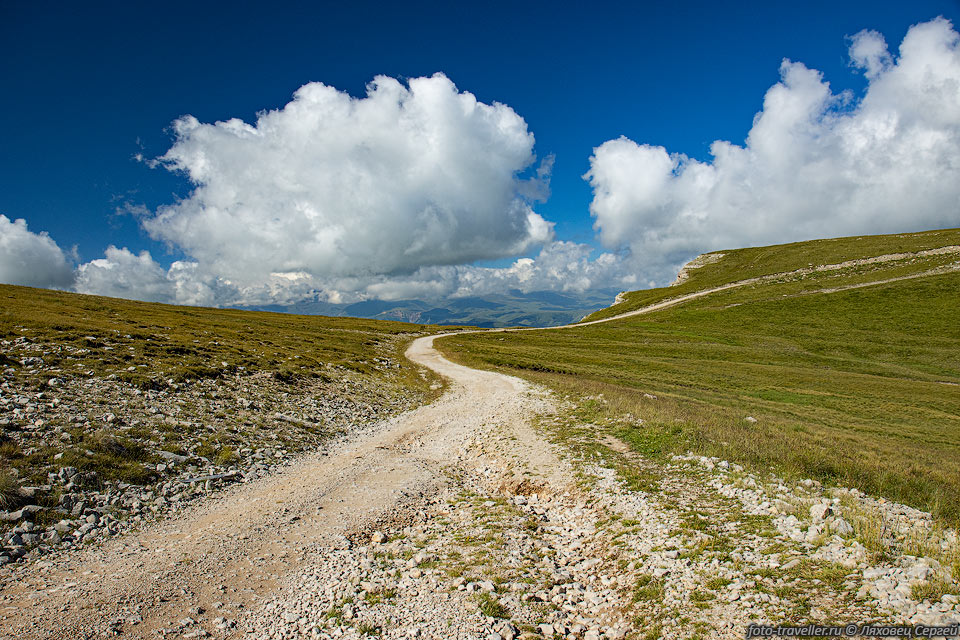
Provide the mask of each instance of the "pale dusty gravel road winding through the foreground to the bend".
[{"label": "pale dusty gravel road winding through the foreground to the bend", "polygon": [[334,455],[307,457],[142,532],[18,567],[0,593],[0,635],[85,638],[122,629],[125,637],[154,637],[196,607],[254,606],[296,573],[311,545],[389,518],[407,496],[435,491],[458,446],[491,425],[522,431],[519,453],[534,467],[556,469],[527,427],[526,383],[451,363],[432,343],[416,340],[407,356],[450,380],[440,401]]}]

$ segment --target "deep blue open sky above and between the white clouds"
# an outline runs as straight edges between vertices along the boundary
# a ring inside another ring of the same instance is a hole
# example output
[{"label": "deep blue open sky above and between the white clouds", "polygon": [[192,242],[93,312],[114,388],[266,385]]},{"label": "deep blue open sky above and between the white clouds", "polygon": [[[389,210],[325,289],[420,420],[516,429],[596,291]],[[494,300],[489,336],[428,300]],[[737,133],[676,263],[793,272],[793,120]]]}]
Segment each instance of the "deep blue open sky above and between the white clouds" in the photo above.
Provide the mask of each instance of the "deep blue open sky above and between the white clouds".
[{"label": "deep blue open sky above and between the white clouds", "polygon": [[134,159],[167,152],[175,119],[252,123],[308,82],[360,97],[379,74],[442,72],[509,106],[534,153],[554,154],[551,196],[533,208],[556,239],[594,257],[636,251],[601,246],[592,228],[582,176],[595,147],[625,136],[709,162],[714,140],[744,144],[783,59],[859,97],[850,36],[875,30],[895,54],[911,25],[937,16],[956,24],[960,3],[4,3],[0,214],[76,246],[78,263],[116,245],[167,268],[191,254],[117,210],[189,195],[182,174]]}]

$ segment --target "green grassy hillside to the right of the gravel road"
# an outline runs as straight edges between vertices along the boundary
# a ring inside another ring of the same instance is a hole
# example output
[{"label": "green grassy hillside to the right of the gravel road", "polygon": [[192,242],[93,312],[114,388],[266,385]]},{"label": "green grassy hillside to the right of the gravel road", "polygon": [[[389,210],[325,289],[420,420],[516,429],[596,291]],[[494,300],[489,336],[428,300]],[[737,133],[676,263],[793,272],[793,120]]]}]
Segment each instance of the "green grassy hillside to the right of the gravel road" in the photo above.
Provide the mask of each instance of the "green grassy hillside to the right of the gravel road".
[{"label": "green grassy hillside to the right of the gravel road", "polygon": [[[682,287],[958,240],[953,230],[730,252],[735,260],[701,268]],[[948,269],[958,261],[952,253],[857,265],[610,323],[454,336],[440,346],[580,397],[585,420],[609,423],[648,455],[718,455],[957,521],[960,272]],[[932,269],[944,272],[844,288]],[[663,291],[634,292],[627,304]]]}]

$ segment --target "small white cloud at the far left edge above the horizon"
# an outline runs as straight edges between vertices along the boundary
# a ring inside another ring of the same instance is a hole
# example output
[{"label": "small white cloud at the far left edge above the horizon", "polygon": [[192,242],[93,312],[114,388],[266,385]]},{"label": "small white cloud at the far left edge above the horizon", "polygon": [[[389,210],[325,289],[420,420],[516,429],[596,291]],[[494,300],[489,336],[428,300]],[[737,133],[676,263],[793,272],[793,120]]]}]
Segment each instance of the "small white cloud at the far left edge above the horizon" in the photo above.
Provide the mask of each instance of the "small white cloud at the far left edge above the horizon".
[{"label": "small white cloud at the far left edge above the horizon", "polygon": [[23,219],[0,215],[0,282],[61,289],[73,283],[73,268],[46,232],[33,233]]}]

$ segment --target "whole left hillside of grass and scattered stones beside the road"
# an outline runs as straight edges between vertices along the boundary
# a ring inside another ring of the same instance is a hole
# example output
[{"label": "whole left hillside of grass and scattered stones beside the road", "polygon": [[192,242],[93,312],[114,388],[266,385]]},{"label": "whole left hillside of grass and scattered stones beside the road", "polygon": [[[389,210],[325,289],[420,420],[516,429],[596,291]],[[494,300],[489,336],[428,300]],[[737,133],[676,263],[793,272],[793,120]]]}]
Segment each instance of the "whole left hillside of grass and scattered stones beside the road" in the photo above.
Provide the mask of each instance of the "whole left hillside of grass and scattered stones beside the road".
[{"label": "whole left hillside of grass and scattered stones beside the road", "polygon": [[11,477],[67,466],[145,484],[163,451],[229,467],[315,447],[436,395],[403,357],[436,330],[0,285],[0,508]]}]

